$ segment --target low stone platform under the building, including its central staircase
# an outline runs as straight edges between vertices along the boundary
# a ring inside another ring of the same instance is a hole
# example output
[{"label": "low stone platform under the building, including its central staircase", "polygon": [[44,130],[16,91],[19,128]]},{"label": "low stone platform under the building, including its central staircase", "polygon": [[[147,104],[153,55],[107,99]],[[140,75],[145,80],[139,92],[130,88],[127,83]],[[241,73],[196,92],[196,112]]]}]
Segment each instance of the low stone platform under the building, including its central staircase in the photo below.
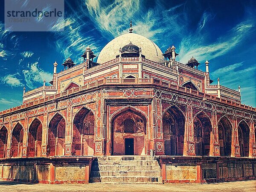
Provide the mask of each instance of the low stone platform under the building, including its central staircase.
[{"label": "low stone platform under the building, including its central staircase", "polygon": [[256,158],[29,157],[0,160],[0,180],[30,183],[216,183],[256,179]]}]

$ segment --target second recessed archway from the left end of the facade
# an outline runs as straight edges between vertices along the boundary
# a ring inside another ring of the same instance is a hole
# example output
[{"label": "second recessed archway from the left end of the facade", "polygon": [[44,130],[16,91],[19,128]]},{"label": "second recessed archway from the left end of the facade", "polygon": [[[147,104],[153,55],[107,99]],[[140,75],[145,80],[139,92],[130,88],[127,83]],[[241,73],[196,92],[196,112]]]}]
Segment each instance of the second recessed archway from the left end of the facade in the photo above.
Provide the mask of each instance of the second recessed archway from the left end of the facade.
[{"label": "second recessed archway from the left end of the facade", "polygon": [[18,122],[12,130],[10,157],[22,157],[23,126]]}]

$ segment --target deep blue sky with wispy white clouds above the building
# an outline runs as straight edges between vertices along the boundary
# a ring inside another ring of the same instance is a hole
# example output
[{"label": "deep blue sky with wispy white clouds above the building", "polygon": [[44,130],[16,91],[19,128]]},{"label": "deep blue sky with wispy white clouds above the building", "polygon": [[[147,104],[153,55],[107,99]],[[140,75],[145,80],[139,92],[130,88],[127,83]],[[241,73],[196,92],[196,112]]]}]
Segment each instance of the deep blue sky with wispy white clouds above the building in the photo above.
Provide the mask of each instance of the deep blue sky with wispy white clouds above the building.
[{"label": "deep blue sky with wispy white clouds above the building", "polygon": [[0,0],[0,110],[22,103],[23,87],[40,87],[52,79],[70,56],[81,63],[87,46],[100,50],[118,35],[135,33],[154,41],[164,52],[174,44],[177,61],[194,56],[210,77],[232,89],[241,86],[241,100],[256,107],[256,1],[67,0],[62,32],[8,32]]}]

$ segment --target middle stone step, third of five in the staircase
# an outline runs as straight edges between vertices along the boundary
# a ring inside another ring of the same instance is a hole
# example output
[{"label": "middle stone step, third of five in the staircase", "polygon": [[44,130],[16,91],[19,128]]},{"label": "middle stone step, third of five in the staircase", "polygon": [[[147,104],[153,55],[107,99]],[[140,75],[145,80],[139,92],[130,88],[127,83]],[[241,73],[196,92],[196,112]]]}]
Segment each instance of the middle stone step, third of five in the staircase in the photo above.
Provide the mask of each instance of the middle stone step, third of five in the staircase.
[{"label": "middle stone step, third of five in the staircase", "polygon": [[124,166],[124,165],[101,165],[92,166],[91,171],[161,171],[160,166]]}]

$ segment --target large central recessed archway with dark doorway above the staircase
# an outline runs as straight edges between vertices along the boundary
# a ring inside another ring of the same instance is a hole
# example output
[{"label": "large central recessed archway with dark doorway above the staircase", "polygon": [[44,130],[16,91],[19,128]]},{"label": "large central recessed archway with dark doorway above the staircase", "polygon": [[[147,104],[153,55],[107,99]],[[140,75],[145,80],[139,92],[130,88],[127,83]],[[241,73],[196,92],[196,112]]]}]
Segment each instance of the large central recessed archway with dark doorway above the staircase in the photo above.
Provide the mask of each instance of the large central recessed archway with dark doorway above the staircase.
[{"label": "large central recessed archway with dark doorway above the staircase", "polygon": [[140,111],[128,107],[111,118],[111,154],[146,155],[147,119]]}]

